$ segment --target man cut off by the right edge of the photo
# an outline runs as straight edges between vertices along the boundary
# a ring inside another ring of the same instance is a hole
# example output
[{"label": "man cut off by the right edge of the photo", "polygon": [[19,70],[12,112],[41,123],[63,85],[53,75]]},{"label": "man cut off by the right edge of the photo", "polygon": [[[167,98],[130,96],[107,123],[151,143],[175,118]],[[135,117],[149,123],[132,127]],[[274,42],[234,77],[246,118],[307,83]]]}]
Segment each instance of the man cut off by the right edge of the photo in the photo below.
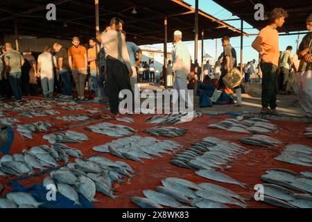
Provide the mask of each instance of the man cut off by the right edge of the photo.
[{"label": "man cut off by the right edge of the photo", "polygon": [[297,54],[300,61],[298,76],[299,102],[304,112],[312,116],[312,13],[306,19],[306,29],[309,33],[304,36]]}]

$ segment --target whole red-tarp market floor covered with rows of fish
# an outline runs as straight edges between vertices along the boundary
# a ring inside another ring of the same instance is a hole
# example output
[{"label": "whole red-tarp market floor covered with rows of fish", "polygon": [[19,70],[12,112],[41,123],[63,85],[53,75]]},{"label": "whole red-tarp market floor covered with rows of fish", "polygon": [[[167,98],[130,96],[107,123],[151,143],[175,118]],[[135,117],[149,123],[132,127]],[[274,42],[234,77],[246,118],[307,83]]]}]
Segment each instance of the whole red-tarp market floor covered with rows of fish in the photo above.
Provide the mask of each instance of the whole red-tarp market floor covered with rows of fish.
[{"label": "whole red-tarp market floor covered with rows of fish", "polygon": [[311,207],[308,123],[23,103],[0,103],[0,207]]}]

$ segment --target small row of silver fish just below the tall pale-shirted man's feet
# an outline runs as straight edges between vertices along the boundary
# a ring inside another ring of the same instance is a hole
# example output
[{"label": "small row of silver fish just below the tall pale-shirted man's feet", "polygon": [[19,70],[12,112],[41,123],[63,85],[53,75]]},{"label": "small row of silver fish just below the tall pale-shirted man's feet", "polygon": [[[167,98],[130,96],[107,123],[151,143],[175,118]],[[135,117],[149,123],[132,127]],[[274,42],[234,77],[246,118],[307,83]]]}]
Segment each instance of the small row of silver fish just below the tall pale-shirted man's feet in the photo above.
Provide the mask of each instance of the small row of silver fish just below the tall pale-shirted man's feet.
[{"label": "small row of silver fish just below the tall pale-shirted man's feet", "polygon": [[128,135],[132,135],[137,132],[133,128],[129,126],[123,126],[119,124],[113,123],[99,123],[94,126],[85,127],[85,130],[92,131],[93,133],[103,134],[110,137],[124,137]]}]

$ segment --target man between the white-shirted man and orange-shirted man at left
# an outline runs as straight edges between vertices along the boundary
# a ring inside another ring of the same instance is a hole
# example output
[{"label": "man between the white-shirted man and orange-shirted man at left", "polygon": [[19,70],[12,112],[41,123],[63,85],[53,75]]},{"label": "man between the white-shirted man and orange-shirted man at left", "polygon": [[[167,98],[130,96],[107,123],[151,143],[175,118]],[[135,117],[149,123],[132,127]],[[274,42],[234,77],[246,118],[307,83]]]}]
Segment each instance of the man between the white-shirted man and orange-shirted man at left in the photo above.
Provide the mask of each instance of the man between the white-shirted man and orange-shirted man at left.
[{"label": "man between the white-shirted man and orange-shirted man at left", "polygon": [[53,49],[58,56],[58,69],[64,83],[62,99],[73,99],[71,94],[71,68],[69,67],[68,50],[61,44],[53,44]]}]

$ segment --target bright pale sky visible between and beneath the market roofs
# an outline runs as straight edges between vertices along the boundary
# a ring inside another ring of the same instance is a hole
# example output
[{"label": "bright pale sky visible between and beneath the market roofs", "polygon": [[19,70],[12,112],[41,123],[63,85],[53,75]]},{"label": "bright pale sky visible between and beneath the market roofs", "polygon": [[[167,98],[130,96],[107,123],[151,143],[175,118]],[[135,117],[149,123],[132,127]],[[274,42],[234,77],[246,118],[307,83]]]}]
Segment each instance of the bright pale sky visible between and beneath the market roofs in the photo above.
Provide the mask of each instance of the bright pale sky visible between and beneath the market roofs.
[{"label": "bright pale sky visible between and beneath the market roofs", "polygon": [[[193,8],[195,8],[195,0],[184,0],[186,3],[189,3]],[[232,13],[225,10],[225,8],[219,6],[217,3],[215,3],[212,0],[199,0],[199,8],[200,10],[203,10],[207,12],[210,15],[213,15],[214,17],[218,19],[237,19],[239,17],[232,16]],[[287,20],[286,20],[287,22]],[[241,28],[241,22],[240,21],[227,21],[227,24],[230,24],[236,28]],[[245,33],[249,34],[257,34],[259,31],[257,29],[252,28],[250,24],[244,22],[244,31]],[[252,49],[252,42],[254,41],[256,36],[249,36],[243,38],[243,63],[247,63],[248,61],[252,59],[256,59],[258,61],[258,53],[254,49]],[[299,36],[299,40],[301,42],[304,35]],[[288,35],[288,36],[280,36],[279,37],[279,50],[284,51],[288,45],[293,46],[293,53],[295,52],[295,49],[297,49],[297,43],[295,42],[298,38],[298,35]],[[200,44],[201,41],[198,42]],[[194,42],[185,42],[187,46],[189,47],[189,51],[191,53],[192,58],[194,58]],[[217,40],[218,43],[218,53],[217,55],[220,56],[220,54],[223,51],[221,40]],[[231,38],[231,44],[236,49],[238,62],[240,62],[241,58],[241,37],[232,37]],[[200,47],[200,46],[199,46]],[[173,48],[172,44],[168,44],[168,51],[171,51]],[[161,49],[163,50],[163,44],[153,44],[153,45],[147,45],[144,46],[144,49]],[[215,40],[205,40],[204,41],[204,51],[205,53],[208,53],[212,58],[215,58],[216,56],[216,42]],[[204,53],[204,54],[205,54]],[[201,49],[198,49],[198,61],[200,63],[201,58]]]}]

